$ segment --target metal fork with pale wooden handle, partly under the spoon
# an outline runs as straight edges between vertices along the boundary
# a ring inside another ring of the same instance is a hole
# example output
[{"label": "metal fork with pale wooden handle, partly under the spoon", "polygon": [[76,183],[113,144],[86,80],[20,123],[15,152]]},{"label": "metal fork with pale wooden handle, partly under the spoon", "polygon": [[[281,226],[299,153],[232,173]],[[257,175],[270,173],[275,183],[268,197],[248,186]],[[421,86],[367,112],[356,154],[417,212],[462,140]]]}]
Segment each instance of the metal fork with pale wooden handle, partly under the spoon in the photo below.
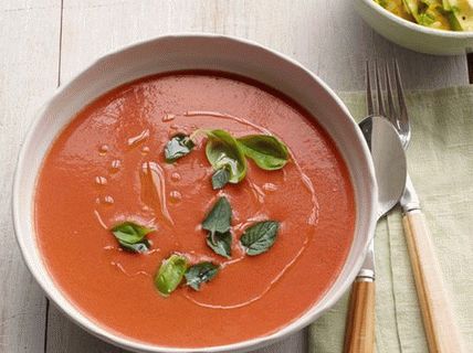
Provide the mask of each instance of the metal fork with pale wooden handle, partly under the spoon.
[{"label": "metal fork with pale wooden handle, partly under the spoon", "polygon": [[[367,63],[368,82],[370,67]],[[411,139],[411,127],[402,88],[399,65],[395,60],[393,71],[389,64],[375,63],[376,99],[368,95],[368,108],[376,109],[395,126],[404,150]],[[381,88],[381,72],[385,72],[386,90]],[[393,77],[393,78],[392,78]],[[406,190],[400,200],[402,225],[409,249],[409,257],[422,312],[423,325],[431,353],[461,353],[463,345],[460,331],[453,320],[449,297],[443,284],[439,260],[419,197],[408,174]]]}]

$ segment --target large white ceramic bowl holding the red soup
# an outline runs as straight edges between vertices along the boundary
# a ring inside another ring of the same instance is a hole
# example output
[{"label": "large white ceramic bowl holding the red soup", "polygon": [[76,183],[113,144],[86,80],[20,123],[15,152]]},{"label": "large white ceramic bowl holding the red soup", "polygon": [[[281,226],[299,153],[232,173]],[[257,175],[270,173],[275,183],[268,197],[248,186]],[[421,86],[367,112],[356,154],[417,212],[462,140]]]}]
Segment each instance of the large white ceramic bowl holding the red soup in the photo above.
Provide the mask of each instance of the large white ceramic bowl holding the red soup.
[{"label": "large white ceramic bowl holding the red soup", "polygon": [[[216,69],[248,76],[272,86],[306,108],[328,131],[348,164],[355,186],[355,239],[338,278],[322,300],[280,331],[250,341],[204,349],[176,349],[146,344],[101,327],[54,285],[34,235],[35,181],[48,148],[74,115],[102,94],[138,77],[178,71]],[[361,266],[377,220],[377,184],[369,150],[341,100],[318,77],[291,58],[255,43],[211,34],[181,34],[138,43],[106,55],[61,86],[34,117],[22,147],[13,189],[13,218],[18,243],[31,274],[77,324],[118,346],[137,352],[243,352],[272,343],[304,328],[333,306],[347,290]]]}]

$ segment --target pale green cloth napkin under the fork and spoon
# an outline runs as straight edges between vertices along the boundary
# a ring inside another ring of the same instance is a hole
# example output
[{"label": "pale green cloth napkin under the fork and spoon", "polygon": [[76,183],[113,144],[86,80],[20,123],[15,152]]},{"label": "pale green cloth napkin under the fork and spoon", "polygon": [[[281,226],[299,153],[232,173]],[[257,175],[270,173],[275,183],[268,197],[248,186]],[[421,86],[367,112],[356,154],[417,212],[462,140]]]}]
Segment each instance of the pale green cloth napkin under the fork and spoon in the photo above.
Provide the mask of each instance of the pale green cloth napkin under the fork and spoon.
[{"label": "pale green cloth napkin under the fork and spoon", "polygon": [[[341,99],[359,120],[362,93]],[[432,233],[466,351],[473,352],[473,86],[408,94],[408,169]],[[401,213],[376,231],[376,351],[428,352]],[[309,353],[343,351],[348,295],[309,327]]]}]

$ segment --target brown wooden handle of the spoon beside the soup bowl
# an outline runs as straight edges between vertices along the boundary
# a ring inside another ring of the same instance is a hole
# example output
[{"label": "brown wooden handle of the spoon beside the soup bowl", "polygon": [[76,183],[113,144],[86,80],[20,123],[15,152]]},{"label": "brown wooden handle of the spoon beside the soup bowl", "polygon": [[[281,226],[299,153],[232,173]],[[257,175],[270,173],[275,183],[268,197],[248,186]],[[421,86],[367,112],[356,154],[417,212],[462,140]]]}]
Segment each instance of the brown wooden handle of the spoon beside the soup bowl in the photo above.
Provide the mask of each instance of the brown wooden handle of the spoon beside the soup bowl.
[{"label": "brown wooden handle of the spoon beside the soup bowl", "polygon": [[345,330],[345,353],[375,352],[375,281],[354,282]]}]

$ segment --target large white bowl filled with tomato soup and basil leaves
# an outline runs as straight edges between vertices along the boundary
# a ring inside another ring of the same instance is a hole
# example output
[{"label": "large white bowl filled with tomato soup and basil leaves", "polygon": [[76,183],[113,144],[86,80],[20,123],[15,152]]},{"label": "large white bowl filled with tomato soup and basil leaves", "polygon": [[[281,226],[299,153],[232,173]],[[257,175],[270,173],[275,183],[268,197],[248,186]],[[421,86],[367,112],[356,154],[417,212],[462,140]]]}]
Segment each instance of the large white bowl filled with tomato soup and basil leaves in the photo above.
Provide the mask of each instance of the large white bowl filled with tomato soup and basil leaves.
[{"label": "large white bowl filled with tomato soup and basil leaves", "polygon": [[[30,270],[80,324],[128,349],[248,350],[282,338],[339,298],[372,233],[372,165],[341,103],[285,57],[207,40],[261,55],[274,75],[293,69],[287,83],[308,79],[333,117],[228,52],[213,53],[227,64],[196,55],[191,65],[177,50],[183,64],[155,73],[118,61],[109,79],[94,64],[49,103],[61,126],[43,113],[20,157],[13,206]],[[93,85],[87,74],[99,89],[78,88]]]}]

